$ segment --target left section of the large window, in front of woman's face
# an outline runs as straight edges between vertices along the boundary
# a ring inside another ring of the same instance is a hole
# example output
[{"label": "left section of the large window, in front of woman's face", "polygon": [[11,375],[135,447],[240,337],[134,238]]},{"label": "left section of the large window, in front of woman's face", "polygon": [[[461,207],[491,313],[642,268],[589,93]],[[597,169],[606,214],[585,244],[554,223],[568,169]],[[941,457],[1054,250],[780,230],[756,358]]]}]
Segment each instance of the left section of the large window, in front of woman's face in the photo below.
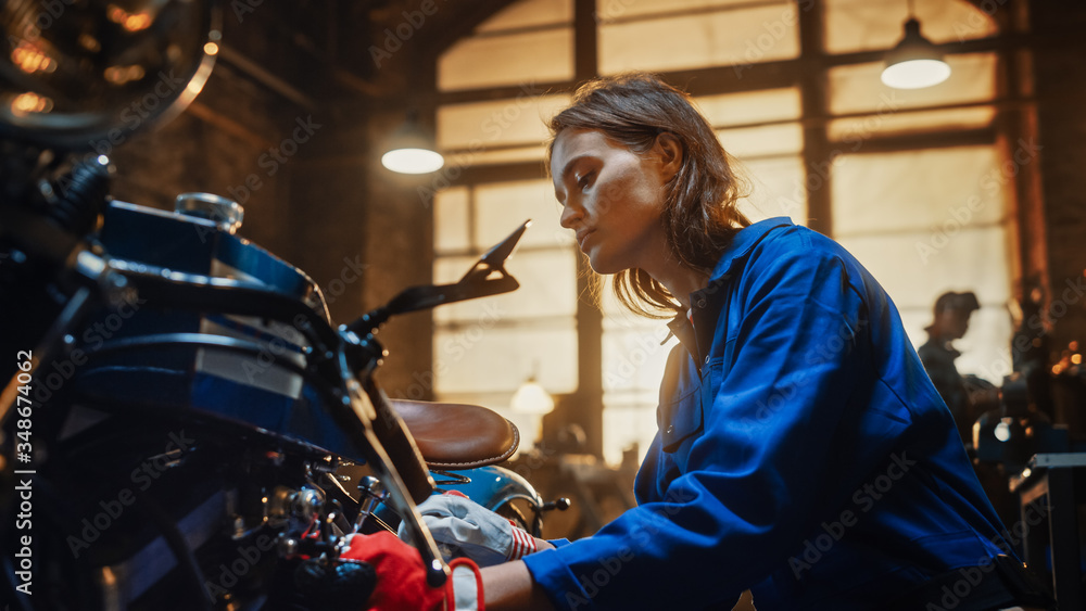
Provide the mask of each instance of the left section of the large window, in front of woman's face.
[{"label": "left section of the large window, in front of woman's face", "polygon": [[[442,176],[456,184],[434,195],[434,281],[455,281],[520,222],[533,226],[506,266],[519,290],[434,310],[434,391],[441,400],[500,411],[526,434],[526,446],[539,423],[509,408],[517,387],[529,377],[556,395],[578,385],[578,253],[558,226],[542,164],[542,119],[569,96],[543,94],[540,86],[571,79],[572,54],[572,0],[532,0],[488,20],[438,65],[441,91],[498,93],[438,110],[438,144],[450,160]],[[529,166],[527,176],[505,171],[518,164]],[[492,171],[479,178],[479,170]]]}]

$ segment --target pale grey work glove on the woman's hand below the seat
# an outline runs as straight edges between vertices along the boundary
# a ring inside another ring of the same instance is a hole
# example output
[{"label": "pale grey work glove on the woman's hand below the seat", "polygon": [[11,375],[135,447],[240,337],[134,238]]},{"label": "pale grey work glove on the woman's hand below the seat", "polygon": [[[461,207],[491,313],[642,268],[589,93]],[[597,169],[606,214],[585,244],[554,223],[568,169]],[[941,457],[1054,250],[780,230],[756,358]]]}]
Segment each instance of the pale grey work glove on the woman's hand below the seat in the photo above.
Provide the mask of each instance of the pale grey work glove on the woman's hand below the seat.
[{"label": "pale grey work glove on the woman's hand below the seat", "polygon": [[[527,531],[459,494],[433,495],[418,506],[418,512],[442,553],[470,558],[480,567],[517,560],[538,549]],[[402,524],[399,535],[412,543]]]}]

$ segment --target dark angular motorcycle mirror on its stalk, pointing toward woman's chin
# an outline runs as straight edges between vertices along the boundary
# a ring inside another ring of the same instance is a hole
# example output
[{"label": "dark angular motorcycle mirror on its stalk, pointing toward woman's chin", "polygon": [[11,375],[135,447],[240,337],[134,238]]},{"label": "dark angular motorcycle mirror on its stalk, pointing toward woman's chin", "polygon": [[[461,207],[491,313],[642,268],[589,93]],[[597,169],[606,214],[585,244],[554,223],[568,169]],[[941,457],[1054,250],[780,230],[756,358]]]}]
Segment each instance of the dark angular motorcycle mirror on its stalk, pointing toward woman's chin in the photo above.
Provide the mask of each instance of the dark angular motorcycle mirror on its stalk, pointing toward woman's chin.
[{"label": "dark angular motorcycle mirror on its stalk, pointing toward woman's chin", "polygon": [[520,224],[513,233],[495,244],[479,257],[471,269],[455,284],[409,287],[400,292],[384,306],[370,311],[354,322],[348,329],[362,334],[377,329],[389,318],[399,314],[407,314],[429,309],[442,304],[451,304],[491,295],[500,295],[515,291],[520,283],[505,270],[505,262],[513,256],[521,236],[531,226],[531,219]]}]

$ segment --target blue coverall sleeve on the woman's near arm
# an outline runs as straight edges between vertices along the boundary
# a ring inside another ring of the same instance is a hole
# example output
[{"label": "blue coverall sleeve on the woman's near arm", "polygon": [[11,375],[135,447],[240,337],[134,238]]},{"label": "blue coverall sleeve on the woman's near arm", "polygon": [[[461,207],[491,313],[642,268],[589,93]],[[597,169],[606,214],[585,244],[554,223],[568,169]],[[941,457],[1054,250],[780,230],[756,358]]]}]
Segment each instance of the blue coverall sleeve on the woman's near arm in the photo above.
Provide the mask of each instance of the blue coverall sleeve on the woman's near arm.
[{"label": "blue coverall sleeve on the woman's near arm", "polygon": [[702,373],[720,385],[682,474],[592,537],[526,558],[556,608],[717,608],[796,552],[818,508],[844,502],[825,498],[826,458],[870,377],[866,307],[834,253],[774,242],[736,280],[742,321],[728,362]]}]

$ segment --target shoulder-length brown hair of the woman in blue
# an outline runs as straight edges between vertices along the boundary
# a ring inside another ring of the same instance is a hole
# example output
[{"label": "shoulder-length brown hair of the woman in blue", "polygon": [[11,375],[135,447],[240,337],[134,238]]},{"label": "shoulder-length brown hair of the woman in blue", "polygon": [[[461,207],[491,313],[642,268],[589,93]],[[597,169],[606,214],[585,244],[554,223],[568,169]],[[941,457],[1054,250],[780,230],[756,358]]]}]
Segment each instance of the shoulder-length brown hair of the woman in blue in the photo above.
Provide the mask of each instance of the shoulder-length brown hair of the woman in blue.
[{"label": "shoulder-length brown hair of the woman in blue", "polygon": [[[683,266],[710,272],[735,233],[750,225],[737,207],[747,183],[733,168],[735,160],[690,96],[657,75],[629,73],[585,82],[547,127],[547,168],[555,139],[566,129],[598,129],[639,155],[646,154],[660,133],[679,140],[682,167],[665,184],[661,221],[671,253]],[[614,289],[619,303],[635,314],[667,318],[682,311],[674,295],[643,269],[616,273]]]}]

